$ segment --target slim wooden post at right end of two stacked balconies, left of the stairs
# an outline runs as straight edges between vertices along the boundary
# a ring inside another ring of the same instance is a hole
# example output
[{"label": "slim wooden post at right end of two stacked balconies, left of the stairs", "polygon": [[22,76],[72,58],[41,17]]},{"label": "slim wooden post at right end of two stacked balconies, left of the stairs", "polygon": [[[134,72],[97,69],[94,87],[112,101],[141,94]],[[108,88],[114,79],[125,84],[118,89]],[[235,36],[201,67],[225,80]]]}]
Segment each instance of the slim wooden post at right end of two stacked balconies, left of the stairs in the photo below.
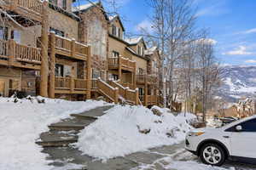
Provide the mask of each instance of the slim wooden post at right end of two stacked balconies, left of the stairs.
[{"label": "slim wooden post at right end of two stacked balconies, left of the stairs", "polygon": [[[87,66],[86,66],[86,78],[87,78],[87,81],[86,81],[86,87],[87,87],[87,93],[86,93],[86,99],[90,99],[91,98],[91,94],[90,94],[90,90],[91,90],[91,52],[90,52],[91,48],[90,46],[88,46],[87,48]],[[85,68],[84,68],[85,69]],[[85,70],[84,70],[85,71]]]}]

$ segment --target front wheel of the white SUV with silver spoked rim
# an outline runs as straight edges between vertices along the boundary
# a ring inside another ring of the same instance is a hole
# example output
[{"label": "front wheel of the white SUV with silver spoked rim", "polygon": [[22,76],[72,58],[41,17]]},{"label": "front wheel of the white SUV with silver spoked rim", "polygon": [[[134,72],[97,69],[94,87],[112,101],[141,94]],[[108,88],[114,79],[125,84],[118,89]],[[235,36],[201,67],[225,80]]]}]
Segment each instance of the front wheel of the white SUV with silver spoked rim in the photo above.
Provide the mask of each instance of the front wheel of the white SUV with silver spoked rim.
[{"label": "front wheel of the white SUV with silver spoked rim", "polygon": [[205,144],[200,152],[201,161],[208,165],[221,166],[226,159],[224,149],[218,144]]}]

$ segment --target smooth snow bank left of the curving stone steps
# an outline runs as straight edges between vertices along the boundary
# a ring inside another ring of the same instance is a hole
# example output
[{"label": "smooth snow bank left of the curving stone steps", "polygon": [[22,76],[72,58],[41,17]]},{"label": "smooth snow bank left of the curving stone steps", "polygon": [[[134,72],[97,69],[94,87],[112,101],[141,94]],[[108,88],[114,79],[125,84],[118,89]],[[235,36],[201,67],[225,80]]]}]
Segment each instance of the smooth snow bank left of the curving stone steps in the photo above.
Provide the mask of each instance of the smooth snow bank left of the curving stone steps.
[{"label": "smooth snow bank left of the curving stone steps", "polygon": [[0,97],[0,169],[49,170],[46,154],[35,144],[39,134],[47,131],[50,123],[58,122],[71,113],[79,113],[105,105],[103,101],[72,102],[61,99],[44,99],[38,104],[35,98]]}]

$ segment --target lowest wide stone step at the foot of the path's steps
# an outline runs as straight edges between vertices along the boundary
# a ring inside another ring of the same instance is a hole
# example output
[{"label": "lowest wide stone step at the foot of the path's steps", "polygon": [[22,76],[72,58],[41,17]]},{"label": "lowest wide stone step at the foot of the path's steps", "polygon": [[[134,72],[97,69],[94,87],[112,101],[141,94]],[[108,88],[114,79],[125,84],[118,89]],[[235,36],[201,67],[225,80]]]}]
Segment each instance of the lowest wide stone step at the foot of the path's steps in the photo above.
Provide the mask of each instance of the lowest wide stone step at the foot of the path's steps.
[{"label": "lowest wide stone step at the foot of the path's steps", "polygon": [[73,144],[78,141],[79,131],[49,131],[41,133],[40,139],[36,142],[44,147],[60,147]]}]

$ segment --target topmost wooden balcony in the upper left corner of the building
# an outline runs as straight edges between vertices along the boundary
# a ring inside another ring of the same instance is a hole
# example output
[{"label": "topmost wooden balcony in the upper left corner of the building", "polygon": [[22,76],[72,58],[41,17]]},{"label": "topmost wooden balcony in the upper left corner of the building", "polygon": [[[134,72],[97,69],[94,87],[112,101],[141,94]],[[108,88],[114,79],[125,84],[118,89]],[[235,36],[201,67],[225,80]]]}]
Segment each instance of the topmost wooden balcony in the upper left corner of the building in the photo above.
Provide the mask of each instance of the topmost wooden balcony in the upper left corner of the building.
[{"label": "topmost wooden balcony in the upper left corner of the building", "polygon": [[3,0],[3,8],[20,18],[42,21],[43,3],[40,0]]}]

